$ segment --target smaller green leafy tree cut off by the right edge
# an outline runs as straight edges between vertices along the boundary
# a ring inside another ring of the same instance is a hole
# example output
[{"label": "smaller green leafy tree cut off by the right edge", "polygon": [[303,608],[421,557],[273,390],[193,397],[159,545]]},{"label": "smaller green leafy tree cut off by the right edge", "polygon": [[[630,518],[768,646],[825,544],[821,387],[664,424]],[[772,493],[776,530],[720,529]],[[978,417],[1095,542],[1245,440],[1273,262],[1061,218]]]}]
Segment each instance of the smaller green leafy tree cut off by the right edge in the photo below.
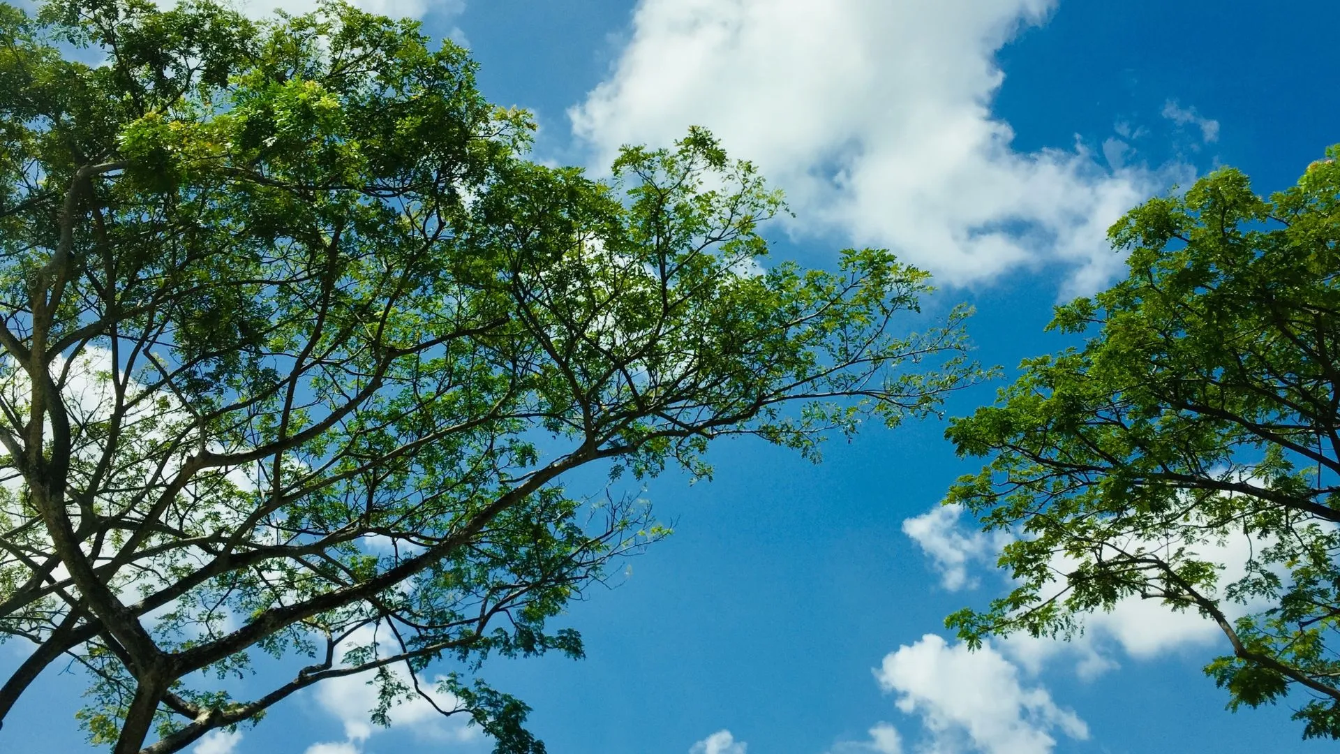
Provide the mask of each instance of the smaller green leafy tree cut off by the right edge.
[{"label": "smaller green leafy tree cut off by the right edge", "polygon": [[[947,429],[992,460],[946,502],[1013,533],[1013,589],[947,624],[1069,637],[1124,598],[1197,610],[1229,707],[1304,699],[1340,738],[1340,148],[1269,199],[1221,169],[1111,229],[1130,275],[1057,307],[1083,347],[1022,362]],[[1227,578],[1222,546],[1242,550]],[[1219,553],[1218,555],[1215,553]],[[1294,696],[1290,696],[1294,695]]]}]

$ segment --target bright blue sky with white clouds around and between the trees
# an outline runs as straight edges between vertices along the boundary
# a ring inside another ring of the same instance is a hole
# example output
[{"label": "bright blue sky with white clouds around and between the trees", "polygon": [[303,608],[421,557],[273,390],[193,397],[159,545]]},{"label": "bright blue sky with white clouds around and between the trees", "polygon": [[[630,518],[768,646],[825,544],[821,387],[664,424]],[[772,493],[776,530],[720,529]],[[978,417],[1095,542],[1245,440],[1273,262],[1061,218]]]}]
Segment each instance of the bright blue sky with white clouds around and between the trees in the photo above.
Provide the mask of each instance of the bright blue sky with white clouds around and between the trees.
[{"label": "bright blue sky with white clouds around and between the trees", "polygon": [[[1321,1],[363,4],[464,40],[485,94],[536,113],[537,158],[598,172],[619,144],[713,129],[792,199],[776,256],[823,266],[844,246],[894,248],[937,275],[929,315],[977,306],[978,356],[1006,368],[1063,345],[1041,331],[1060,298],[1120,274],[1103,232],[1131,204],[1225,164],[1280,189],[1340,141],[1335,11]],[[555,754],[1331,746],[1300,741],[1285,708],[1225,711],[1199,672],[1223,641],[1155,605],[1123,605],[1073,645],[963,652],[943,616],[1002,581],[994,543],[937,510],[976,470],[942,432],[871,429],[817,466],[760,443],[717,447],[710,484],[649,486],[675,534],[571,609],[587,659],[492,663],[486,678],[535,708]],[[80,690],[76,675],[44,676],[0,746],[84,750]],[[368,729],[366,692],[356,680],[310,692],[197,751],[489,749],[417,707]]]}]

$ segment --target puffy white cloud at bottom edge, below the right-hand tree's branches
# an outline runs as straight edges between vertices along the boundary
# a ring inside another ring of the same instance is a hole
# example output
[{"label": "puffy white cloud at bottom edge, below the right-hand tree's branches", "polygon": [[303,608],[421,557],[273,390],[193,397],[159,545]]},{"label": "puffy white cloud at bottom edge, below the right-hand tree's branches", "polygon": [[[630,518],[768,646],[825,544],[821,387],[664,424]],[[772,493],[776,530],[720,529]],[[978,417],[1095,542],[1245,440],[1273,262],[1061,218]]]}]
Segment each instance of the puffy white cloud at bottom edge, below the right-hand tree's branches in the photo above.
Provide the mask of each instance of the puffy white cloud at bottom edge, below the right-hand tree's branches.
[{"label": "puffy white cloud at bottom edge, below the right-hand tree's branches", "polygon": [[1020,684],[1018,668],[990,645],[969,652],[927,633],[888,653],[875,671],[898,694],[898,708],[919,715],[937,751],[1049,754],[1055,733],[1088,738],[1088,726],[1043,687]]}]

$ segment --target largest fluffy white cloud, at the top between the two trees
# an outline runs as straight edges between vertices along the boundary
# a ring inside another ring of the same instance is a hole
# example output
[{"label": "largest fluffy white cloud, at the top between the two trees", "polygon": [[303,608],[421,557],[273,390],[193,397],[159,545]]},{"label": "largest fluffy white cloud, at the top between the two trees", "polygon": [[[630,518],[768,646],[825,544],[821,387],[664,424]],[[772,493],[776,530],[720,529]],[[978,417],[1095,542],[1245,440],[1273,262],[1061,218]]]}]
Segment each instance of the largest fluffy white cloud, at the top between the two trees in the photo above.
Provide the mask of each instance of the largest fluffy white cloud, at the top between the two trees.
[{"label": "largest fluffy white cloud, at the top between the two trees", "polygon": [[[990,102],[996,51],[1053,0],[642,0],[575,133],[607,162],[689,125],[756,161],[809,232],[883,246],[954,283],[1045,263],[1071,291],[1163,180],[1081,146],[1020,152]],[[1067,292],[1071,292],[1067,291]]]}]

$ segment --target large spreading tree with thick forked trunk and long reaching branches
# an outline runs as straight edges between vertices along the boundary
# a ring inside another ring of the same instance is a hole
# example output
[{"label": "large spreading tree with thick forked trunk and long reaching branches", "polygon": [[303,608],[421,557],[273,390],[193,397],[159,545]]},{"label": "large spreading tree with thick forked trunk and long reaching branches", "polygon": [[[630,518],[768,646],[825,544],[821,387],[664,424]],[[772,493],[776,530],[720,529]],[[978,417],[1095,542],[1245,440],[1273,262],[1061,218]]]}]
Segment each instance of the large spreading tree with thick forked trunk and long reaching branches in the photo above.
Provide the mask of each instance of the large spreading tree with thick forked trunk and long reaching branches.
[{"label": "large spreading tree with thick forked trunk and long reaching branches", "polygon": [[[68,657],[94,742],[178,751],[370,672],[374,720],[448,698],[543,751],[478,671],[582,655],[551,618],[665,534],[620,475],[813,457],[980,376],[886,251],[762,271],[781,199],[706,131],[537,165],[415,23],[51,0],[0,40],[0,719]],[[289,680],[229,695],[257,652]]]}]

